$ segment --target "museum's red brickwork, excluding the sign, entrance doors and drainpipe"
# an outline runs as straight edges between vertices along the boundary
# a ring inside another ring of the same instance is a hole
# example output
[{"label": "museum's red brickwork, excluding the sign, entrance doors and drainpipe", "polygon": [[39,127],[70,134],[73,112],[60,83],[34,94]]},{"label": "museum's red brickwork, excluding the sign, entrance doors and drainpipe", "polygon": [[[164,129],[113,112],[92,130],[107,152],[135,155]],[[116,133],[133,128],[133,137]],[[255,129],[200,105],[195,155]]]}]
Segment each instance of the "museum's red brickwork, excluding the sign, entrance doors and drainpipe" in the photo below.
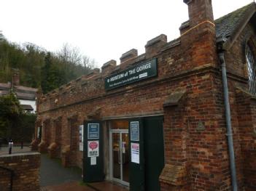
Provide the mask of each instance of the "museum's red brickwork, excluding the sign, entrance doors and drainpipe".
[{"label": "museum's red brickwork, excluding the sign, entrance doors and drainpipe", "polygon": [[[231,190],[212,2],[185,2],[190,20],[182,24],[179,38],[167,42],[162,34],[147,42],[144,54],[138,56],[131,49],[122,55],[120,65],[110,60],[101,73],[95,69],[53,92],[39,94],[36,132],[39,126],[43,131],[33,148],[61,158],[63,166],[82,168],[79,125],[84,121],[163,115],[161,190]],[[247,91],[244,55],[245,43],[250,38],[256,44],[255,37],[255,25],[249,22],[225,52],[239,190],[256,188],[256,100]],[[104,89],[106,76],[152,58],[158,60],[157,77]]]}]

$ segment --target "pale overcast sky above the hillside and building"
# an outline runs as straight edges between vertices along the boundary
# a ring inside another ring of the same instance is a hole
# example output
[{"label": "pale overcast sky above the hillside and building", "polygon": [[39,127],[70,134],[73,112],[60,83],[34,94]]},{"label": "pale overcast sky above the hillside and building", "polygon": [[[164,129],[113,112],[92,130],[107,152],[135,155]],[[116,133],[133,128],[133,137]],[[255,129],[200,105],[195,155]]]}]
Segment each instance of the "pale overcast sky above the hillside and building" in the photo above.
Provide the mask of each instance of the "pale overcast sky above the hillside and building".
[{"label": "pale overcast sky above the hillside and building", "polygon": [[[253,0],[212,0],[214,18]],[[182,0],[0,0],[0,31],[12,42],[31,42],[55,52],[64,43],[79,47],[97,67],[161,33],[179,37],[188,19]]]}]

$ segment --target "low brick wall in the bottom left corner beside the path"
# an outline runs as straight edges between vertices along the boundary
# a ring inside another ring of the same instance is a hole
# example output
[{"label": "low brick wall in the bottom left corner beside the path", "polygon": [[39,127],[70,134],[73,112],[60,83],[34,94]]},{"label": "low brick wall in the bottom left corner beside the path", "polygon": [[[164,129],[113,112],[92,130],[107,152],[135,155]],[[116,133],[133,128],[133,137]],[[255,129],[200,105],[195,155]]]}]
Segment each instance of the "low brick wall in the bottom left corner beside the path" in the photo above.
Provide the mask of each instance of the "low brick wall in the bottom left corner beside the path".
[{"label": "low brick wall in the bottom left corner beside the path", "polygon": [[14,171],[13,191],[39,191],[39,167],[39,153],[0,155],[0,190],[9,191],[11,173],[3,169],[9,168]]}]

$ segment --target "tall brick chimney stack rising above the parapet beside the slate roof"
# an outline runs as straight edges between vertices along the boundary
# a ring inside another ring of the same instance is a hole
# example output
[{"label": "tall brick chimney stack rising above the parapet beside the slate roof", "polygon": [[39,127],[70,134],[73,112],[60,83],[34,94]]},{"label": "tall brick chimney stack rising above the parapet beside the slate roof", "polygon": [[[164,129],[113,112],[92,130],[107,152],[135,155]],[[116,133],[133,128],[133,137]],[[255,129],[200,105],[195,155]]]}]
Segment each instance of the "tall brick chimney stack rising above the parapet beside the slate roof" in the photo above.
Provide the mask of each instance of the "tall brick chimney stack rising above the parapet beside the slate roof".
[{"label": "tall brick chimney stack rising above the parapet beside the slate roof", "polygon": [[[181,44],[190,47],[191,67],[216,65],[216,32],[212,0],[183,0],[190,20],[182,23]],[[207,51],[202,51],[207,50]],[[193,64],[192,64],[193,63]]]}]

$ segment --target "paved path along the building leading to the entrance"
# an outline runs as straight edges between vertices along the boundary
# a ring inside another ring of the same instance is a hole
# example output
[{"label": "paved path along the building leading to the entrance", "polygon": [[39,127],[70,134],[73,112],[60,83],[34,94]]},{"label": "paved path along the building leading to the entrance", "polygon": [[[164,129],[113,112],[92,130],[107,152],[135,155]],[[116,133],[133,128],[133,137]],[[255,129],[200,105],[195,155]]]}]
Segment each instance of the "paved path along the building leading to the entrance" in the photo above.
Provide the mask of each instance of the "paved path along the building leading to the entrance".
[{"label": "paved path along the building leading to the entrance", "polygon": [[82,182],[82,171],[79,168],[64,168],[61,160],[50,159],[41,155],[40,186],[41,191],[127,191],[111,182]]}]

